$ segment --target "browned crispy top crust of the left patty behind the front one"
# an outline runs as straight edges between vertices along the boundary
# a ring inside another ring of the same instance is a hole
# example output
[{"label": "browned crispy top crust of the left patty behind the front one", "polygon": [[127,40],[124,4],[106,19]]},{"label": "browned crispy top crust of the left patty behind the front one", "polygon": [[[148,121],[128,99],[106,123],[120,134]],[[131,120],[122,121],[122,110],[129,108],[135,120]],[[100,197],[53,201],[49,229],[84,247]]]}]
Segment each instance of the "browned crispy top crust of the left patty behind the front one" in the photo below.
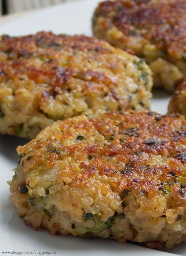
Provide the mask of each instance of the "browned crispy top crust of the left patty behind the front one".
[{"label": "browned crispy top crust of the left patty behind the front one", "polygon": [[[73,65],[72,67],[60,68],[59,62],[61,59],[55,57],[55,54],[59,54],[61,50],[65,49],[67,51],[75,49],[79,52],[93,51],[99,54],[111,54],[112,50],[107,48],[106,45],[103,47],[100,42],[83,35],[54,35],[51,32],[40,32],[36,35],[13,38],[2,36],[2,40],[0,40],[0,57],[2,58],[0,62],[0,82],[6,82],[10,78],[19,79],[19,76],[26,74],[35,83],[53,84],[50,92],[47,92],[47,94],[43,92],[44,97],[49,96],[48,94],[52,95],[57,86],[67,90],[67,85],[73,77],[80,77],[82,80],[85,79],[95,83],[113,84],[111,79],[101,72],[85,70],[81,74],[73,68]],[[34,58],[39,60],[47,58],[49,60],[40,66],[39,63],[36,65]],[[73,56],[71,58],[73,59]]]}]

